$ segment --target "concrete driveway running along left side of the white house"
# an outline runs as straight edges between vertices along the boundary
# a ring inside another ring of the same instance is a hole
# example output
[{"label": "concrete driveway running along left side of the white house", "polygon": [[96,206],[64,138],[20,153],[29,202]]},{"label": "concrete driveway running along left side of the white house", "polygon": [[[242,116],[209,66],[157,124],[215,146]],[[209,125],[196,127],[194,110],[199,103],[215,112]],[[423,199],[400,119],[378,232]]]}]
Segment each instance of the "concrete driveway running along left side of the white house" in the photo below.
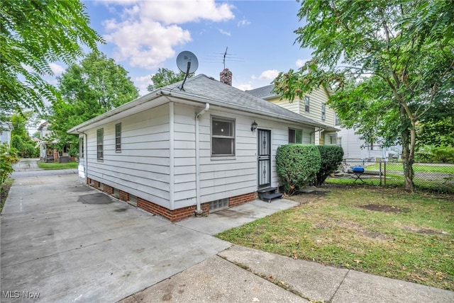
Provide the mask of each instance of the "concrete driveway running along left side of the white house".
[{"label": "concrete driveway running along left side of the white house", "polygon": [[116,302],[231,246],[81,185],[74,170],[13,178],[1,302]]}]

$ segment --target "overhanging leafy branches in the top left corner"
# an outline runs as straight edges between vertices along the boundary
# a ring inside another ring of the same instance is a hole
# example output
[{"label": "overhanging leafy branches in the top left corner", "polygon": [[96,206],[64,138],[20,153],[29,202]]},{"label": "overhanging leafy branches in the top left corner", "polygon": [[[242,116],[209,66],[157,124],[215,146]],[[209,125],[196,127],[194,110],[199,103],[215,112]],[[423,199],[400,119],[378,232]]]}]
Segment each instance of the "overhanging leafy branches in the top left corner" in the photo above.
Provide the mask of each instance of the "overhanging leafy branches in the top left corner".
[{"label": "overhanging leafy branches in the top left corner", "polygon": [[74,62],[82,45],[96,50],[104,42],[92,28],[78,0],[0,1],[0,108],[40,110],[43,99],[58,97],[42,76],[52,75],[50,62]]}]

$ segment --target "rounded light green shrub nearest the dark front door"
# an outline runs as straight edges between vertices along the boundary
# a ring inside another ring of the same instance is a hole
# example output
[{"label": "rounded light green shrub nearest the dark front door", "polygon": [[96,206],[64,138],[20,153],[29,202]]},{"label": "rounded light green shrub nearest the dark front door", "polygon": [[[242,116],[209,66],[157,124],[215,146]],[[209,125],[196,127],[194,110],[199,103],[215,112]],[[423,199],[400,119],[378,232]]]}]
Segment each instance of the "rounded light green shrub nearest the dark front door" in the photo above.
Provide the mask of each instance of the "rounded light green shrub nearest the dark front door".
[{"label": "rounded light green shrub nearest the dark front door", "polygon": [[276,151],[276,170],[285,193],[292,195],[316,177],[320,152],[315,145],[282,145]]}]

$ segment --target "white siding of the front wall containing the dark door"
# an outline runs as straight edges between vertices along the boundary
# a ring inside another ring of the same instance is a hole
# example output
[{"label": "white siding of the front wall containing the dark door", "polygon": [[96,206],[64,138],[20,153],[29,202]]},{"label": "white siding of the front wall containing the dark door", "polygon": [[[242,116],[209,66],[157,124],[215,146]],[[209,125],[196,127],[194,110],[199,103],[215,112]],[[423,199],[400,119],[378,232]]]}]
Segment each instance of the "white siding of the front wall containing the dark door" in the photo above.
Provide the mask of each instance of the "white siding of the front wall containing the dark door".
[{"label": "white siding of the front wall containing the dark door", "polygon": [[[196,202],[195,121],[201,108],[175,105],[175,208]],[[211,156],[211,115],[235,119],[236,156]],[[251,132],[253,121],[271,130],[272,186],[278,186],[275,156],[277,147],[288,144],[289,127],[302,129],[304,143],[311,142],[314,129],[270,120],[244,117],[238,113],[209,110],[199,118],[201,202],[253,193],[258,188],[258,132]]]}]

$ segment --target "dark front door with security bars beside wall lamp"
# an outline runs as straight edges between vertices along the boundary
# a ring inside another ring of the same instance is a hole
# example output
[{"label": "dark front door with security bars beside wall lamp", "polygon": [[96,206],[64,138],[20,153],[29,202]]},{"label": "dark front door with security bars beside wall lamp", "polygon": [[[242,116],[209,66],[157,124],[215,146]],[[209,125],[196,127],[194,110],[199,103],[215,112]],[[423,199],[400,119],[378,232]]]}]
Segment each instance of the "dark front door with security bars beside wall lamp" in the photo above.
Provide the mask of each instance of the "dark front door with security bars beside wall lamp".
[{"label": "dark front door with security bars beside wall lamp", "polygon": [[271,185],[271,130],[258,130],[258,187]]}]

